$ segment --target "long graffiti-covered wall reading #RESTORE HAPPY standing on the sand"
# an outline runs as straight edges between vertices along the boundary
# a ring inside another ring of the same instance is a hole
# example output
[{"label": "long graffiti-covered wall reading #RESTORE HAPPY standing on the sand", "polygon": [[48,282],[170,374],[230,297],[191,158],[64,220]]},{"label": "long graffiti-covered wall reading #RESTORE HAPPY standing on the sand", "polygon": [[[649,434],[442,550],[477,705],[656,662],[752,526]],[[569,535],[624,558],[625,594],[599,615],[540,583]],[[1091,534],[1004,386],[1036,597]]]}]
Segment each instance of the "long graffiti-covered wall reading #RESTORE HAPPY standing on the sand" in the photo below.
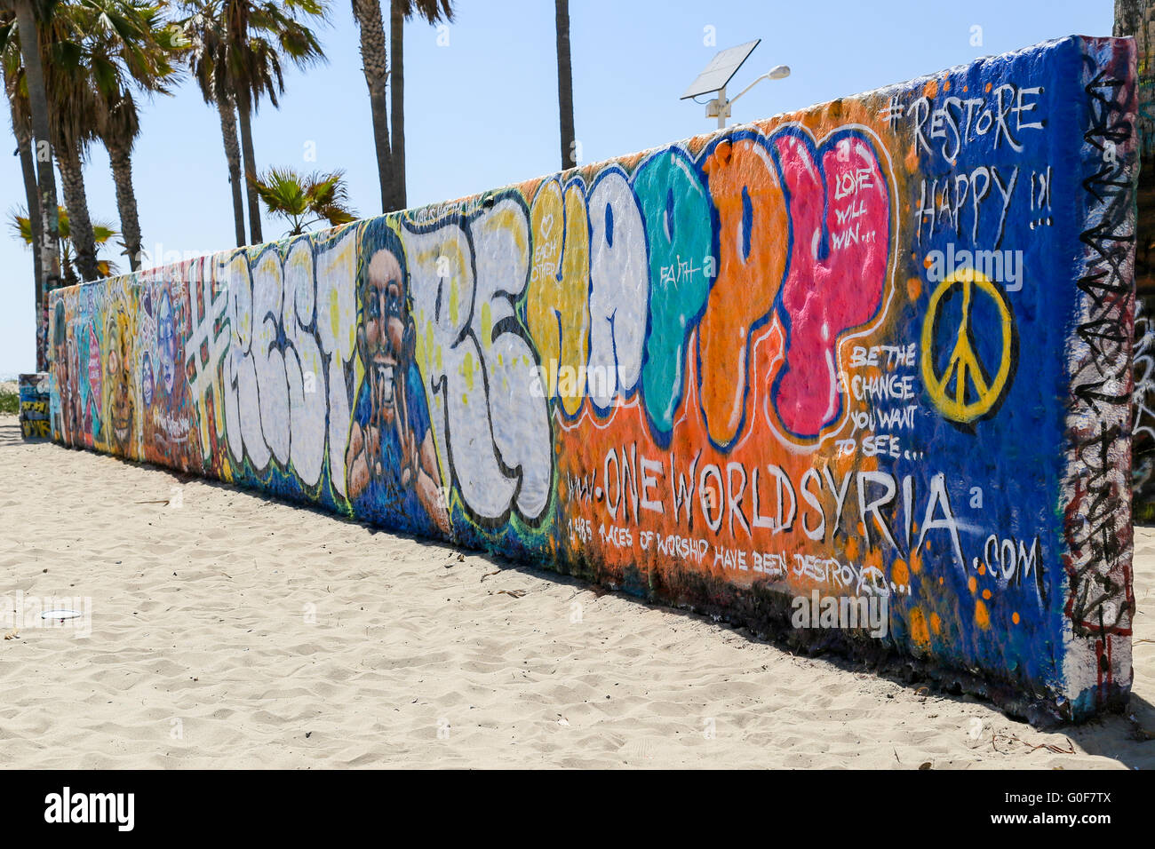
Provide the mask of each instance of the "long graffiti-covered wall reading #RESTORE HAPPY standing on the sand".
[{"label": "long graffiti-covered wall reading #RESTORE HAPPY standing on the sand", "polygon": [[1130,39],[53,292],[55,439],[1082,718],[1131,683]]}]

